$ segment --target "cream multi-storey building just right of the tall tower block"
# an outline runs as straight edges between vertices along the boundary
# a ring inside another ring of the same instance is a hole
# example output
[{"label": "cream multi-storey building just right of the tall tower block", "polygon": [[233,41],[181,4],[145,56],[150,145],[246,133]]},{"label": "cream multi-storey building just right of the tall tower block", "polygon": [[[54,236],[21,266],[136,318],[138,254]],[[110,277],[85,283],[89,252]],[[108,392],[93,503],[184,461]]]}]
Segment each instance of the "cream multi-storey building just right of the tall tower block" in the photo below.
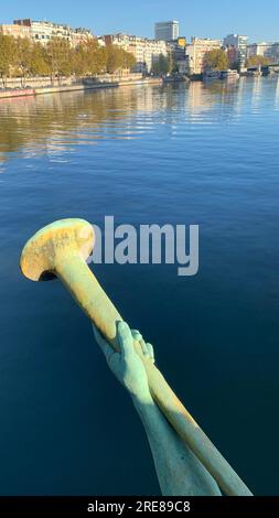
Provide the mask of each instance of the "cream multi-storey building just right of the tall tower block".
[{"label": "cream multi-storey building just right of the tall tower block", "polygon": [[216,48],[222,48],[221,40],[192,37],[190,45],[186,46],[187,73],[203,74],[206,54]]}]

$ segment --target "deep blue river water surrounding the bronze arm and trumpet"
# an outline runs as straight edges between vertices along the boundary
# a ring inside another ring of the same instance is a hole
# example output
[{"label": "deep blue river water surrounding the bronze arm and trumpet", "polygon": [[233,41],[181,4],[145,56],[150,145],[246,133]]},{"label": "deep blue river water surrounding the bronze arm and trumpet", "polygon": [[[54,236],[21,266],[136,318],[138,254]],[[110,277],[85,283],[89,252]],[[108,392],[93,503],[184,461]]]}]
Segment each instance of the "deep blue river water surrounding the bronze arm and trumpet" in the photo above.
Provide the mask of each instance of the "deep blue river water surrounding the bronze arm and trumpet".
[{"label": "deep blue river water surrounding the bronze arm and trumpet", "polygon": [[157,495],[129,397],[58,281],[19,271],[64,217],[200,225],[200,270],[96,265],[170,385],[257,495],[279,494],[279,82],[0,101],[0,493]]}]

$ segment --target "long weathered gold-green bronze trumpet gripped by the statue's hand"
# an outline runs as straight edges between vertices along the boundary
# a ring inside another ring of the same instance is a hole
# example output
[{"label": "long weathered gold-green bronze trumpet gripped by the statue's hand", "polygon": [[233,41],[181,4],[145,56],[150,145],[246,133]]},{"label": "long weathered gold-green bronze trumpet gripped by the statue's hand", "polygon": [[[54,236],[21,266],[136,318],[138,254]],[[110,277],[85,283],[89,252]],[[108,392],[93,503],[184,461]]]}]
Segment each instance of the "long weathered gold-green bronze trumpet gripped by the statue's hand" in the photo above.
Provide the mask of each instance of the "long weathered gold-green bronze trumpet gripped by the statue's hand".
[{"label": "long weathered gold-green bronze trumpet gripped by the statue's hand", "polygon": [[[122,319],[86,263],[94,241],[89,223],[83,219],[55,222],[26,242],[20,260],[21,271],[33,281],[44,280],[50,273],[58,277],[88,317],[118,350],[116,323]],[[232,496],[251,496],[248,487],[184,408],[159,369],[143,357],[138,342],[135,342],[135,347],[144,363],[154,401],[223,492]]]}]

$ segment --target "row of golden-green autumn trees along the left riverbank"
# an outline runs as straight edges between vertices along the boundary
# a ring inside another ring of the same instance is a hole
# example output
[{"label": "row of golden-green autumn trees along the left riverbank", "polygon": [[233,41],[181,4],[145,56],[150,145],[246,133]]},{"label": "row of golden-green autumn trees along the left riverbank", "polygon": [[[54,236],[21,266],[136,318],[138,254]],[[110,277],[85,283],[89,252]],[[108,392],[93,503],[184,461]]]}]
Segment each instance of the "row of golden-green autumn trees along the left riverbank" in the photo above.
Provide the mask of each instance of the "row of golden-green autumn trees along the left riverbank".
[{"label": "row of golden-green autumn trees along the left riverbank", "polygon": [[53,37],[43,46],[30,39],[0,34],[0,76],[86,76],[131,69],[135,56],[116,45],[100,46],[88,40],[72,47],[67,40]]}]

